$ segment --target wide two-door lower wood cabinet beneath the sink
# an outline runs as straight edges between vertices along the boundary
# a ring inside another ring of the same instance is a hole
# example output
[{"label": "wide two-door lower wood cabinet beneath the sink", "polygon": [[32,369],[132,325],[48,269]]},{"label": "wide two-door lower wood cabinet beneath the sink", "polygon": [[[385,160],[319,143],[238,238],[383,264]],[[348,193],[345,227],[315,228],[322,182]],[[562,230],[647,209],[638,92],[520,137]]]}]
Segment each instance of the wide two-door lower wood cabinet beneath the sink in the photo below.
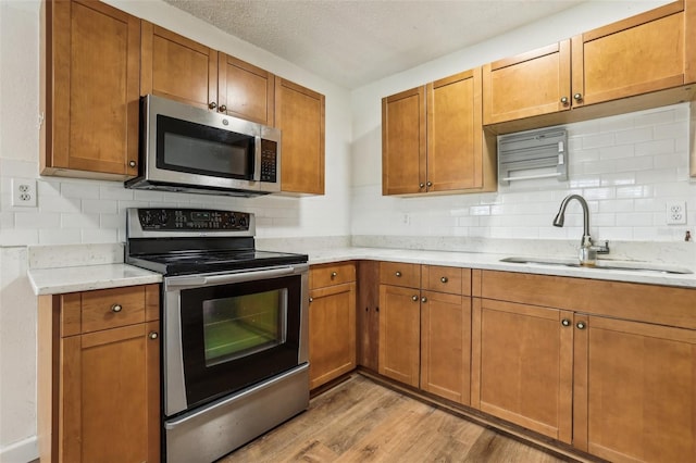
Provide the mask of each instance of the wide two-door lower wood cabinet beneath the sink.
[{"label": "wide two-door lower wood cabinet beneath the sink", "polygon": [[613,462],[696,461],[696,289],[473,280],[473,408]]}]

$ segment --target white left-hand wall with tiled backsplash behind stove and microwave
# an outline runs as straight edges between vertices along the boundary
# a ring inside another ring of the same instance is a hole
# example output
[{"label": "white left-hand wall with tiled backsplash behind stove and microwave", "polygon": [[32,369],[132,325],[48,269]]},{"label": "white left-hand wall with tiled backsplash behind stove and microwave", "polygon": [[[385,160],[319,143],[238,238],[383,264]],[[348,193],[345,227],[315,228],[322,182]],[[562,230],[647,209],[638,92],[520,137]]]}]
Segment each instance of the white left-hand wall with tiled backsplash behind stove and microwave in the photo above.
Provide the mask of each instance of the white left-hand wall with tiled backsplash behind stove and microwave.
[{"label": "white left-hand wall with tiled backsplash behind stove and microwave", "polygon": [[[0,461],[36,458],[36,298],[26,246],[125,240],[128,207],[220,207],[257,214],[257,236],[349,234],[350,93],[162,1],[110,1],[326,97],[326,195],[254,199],[124,189],[38,175],[39,1],[0,0]],[[36,178],[38,207],[11,205],[10,179]]]}]

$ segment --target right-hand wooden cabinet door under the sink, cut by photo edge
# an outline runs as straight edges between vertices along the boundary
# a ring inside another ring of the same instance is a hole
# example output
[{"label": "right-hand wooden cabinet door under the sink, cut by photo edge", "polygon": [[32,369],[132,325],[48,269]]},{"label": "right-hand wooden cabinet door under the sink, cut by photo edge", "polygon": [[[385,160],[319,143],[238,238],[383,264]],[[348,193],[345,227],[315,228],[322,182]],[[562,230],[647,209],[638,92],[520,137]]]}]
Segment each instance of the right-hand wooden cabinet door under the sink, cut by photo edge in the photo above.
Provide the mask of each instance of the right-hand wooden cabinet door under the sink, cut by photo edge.
[{"label": "right-hand wooden cabinet door under the sink, cut by photo edge", "polygon": [[576,317],[573,445],[616,462],[696,458],[696,331]]}]

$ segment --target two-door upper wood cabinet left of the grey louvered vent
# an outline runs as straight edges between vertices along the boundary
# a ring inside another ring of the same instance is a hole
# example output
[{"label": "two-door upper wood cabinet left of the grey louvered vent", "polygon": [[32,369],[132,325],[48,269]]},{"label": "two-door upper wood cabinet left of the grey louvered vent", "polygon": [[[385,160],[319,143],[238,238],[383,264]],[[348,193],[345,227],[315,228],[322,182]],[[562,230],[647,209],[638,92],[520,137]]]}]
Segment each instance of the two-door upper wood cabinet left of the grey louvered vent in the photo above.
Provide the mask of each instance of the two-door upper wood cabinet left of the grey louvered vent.
[{"label": "two-door upper wood cabinet left of the grey louvered vent", "polygon": [[382,99],[382,193],[495,189],[481,68]]}]

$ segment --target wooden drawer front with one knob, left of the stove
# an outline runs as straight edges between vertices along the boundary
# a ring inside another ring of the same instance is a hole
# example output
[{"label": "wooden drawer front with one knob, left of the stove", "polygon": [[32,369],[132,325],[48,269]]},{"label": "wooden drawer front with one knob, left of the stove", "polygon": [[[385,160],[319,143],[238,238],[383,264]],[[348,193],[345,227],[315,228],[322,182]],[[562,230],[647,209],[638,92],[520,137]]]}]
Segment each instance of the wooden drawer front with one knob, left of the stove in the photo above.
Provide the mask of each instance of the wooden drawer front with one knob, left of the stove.
[{"label": "wooden drawer front with one knob, left of the stove", "polygon": [[72,292],[61,297],[61,336],[142,323],[147,286]]}]

